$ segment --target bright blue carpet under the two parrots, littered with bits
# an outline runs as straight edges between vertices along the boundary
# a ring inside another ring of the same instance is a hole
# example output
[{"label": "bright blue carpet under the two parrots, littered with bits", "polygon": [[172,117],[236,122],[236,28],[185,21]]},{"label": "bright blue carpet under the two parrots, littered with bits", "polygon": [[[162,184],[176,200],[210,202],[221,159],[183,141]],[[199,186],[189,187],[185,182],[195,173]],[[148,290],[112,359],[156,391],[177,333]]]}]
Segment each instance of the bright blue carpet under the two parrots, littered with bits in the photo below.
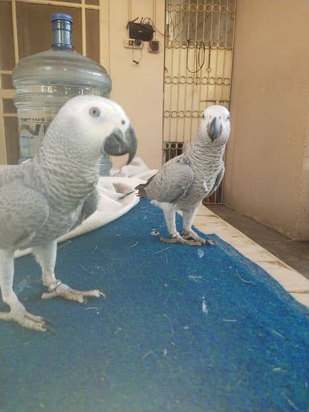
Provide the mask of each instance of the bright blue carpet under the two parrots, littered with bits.
[{"label": "bright blue carpet under the two parrots, littered with bits", "polygon": [[16,293],[55,334],[0,323],[0,411],[307,411],[308,310],[220,238],[153,229],[167,235],[142,200],[60,245],[56,275],[106,301],[41,301],[39,266],[16,260]]}]

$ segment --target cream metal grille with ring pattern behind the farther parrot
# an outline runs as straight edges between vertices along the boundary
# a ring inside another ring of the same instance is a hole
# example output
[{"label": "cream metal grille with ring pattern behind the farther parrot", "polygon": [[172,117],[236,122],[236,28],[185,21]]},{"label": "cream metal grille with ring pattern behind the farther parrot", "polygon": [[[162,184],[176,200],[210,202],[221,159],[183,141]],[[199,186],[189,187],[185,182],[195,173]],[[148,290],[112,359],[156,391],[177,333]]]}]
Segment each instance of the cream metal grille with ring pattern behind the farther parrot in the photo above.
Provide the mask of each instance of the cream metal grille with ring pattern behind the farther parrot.
[{"label": "cream metal grille with ring pattern behind the farther parrot", "polygon": [[[236,0],[168,0],[165,21],[163,161],[185,150],[204,109],[229,108]],[[204,203],[222,203],[222,190]]]}]

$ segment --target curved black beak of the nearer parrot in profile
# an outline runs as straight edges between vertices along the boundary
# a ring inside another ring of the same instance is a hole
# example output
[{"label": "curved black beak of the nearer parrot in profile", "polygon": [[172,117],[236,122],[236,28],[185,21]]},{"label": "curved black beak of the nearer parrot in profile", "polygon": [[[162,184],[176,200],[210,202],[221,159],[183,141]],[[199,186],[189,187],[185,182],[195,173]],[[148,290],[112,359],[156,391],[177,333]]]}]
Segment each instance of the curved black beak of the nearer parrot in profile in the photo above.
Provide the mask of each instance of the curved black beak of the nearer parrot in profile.
[{"label": "curved black beak of the nearer parrot in profile", "polygon": [[126,133],[122,133],[122,130],[116,129],[108,136],[104,142],[103,150],[108,155],[121,156],[128,153],[128,163],[135,157],[137,149],[137,139],[133,128],[129,127]]}]

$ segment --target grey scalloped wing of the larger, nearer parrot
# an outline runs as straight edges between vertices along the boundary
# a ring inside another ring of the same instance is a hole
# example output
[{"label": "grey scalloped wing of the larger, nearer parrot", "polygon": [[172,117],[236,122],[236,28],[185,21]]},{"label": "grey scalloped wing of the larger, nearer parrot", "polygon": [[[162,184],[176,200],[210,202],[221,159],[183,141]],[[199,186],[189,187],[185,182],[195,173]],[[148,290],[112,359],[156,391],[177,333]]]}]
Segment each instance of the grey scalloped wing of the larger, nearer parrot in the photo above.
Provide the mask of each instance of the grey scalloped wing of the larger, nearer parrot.
[{"label": "grey scalloped wing of the larger, nearer parrot", "polygon": [[47,219],[49,208],[43,194],[25,186],[20,179],[9,178],[10,184],[3,184],[4,173],[0,171],[0,227],[5,233],[5,238],[0,238],[0,249],[16,249],[34,237]]}]

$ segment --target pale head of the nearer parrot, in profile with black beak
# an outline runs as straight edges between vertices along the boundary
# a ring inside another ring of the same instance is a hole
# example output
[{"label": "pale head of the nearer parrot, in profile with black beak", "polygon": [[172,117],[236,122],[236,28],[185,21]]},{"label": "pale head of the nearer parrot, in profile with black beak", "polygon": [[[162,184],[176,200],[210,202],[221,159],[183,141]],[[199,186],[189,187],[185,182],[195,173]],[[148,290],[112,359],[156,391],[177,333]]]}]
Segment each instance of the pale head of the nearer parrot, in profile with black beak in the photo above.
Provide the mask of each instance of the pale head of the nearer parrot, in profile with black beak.
[{"label": "pale head of the nearer parrot, in profile with black beak", "polygon": [[[99,96],[77,96],[60,110],[62,122],[76,136],[80,150],[100,157],[102,153],[135,156],[137,139],[126,113],[113,100]],[[82,146],[82,147],[80,147]]]}]

